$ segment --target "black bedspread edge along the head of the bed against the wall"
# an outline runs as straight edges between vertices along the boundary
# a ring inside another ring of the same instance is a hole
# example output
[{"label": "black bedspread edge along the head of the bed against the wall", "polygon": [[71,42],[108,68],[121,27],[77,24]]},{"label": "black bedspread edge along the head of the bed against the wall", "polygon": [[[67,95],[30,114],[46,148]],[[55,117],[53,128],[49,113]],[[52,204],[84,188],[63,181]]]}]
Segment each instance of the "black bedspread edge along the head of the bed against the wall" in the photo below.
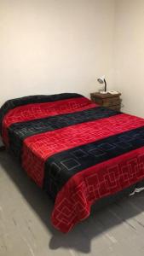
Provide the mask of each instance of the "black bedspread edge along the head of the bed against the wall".
[{"label": "black bedspread edge along the head of the bed against the wall", "polygon": [[3,104],[2,108],[0,108],[0,131],[2,129],[3,117],[6,113],[9,112],[10,109],[20,107],[26,104],[56,102],[60,100],[70,99],[73,97],[78,98],[78,97],[82,97],[82,95],[77,93],[61,93],[61,94],[55,94],[55,95],[49,95],[49,96],[46,96],[46,95],[24,96],[24,97],[9,100]]}]

